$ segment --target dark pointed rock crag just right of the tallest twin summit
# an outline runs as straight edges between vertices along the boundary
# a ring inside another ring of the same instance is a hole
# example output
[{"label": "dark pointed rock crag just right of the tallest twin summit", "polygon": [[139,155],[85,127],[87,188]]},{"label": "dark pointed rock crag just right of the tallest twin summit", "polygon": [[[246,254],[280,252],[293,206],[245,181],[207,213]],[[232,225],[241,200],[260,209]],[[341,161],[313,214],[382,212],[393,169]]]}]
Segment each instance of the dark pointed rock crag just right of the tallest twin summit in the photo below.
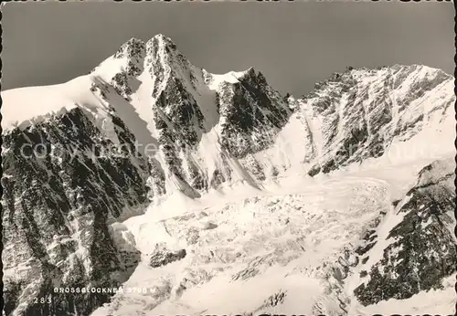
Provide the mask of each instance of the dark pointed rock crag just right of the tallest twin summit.
[{"label": "dark pointed rock crag just right of the tallest twin summit", "polygon": [[261,72],[250,68],[238,82],[218,90],[221,143],[231,156],[245,157],[274,142],[292,111]]}]

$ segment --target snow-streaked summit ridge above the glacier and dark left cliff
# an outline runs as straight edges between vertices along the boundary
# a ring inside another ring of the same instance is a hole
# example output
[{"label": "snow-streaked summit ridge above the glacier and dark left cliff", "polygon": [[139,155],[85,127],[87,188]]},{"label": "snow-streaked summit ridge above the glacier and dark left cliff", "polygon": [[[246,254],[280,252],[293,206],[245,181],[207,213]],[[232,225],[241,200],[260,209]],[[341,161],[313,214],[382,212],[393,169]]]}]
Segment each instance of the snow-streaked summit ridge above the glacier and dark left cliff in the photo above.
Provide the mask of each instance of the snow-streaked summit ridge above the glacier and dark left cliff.
[{"label": "snow-streaked summit ridge above the glacier and dark left cliff", "polygon": [[80,107],[110,134],[115,111],[163,169],[162,191],[191,196],[360,163],[431,162],[453,153],[451,141],[433,140],[455,138],[453,78],[439,69],[350,69],[283,100],[253,68],[210,74],[162,35],[132,38],[90,75],[2,97],[5,132]]}]

